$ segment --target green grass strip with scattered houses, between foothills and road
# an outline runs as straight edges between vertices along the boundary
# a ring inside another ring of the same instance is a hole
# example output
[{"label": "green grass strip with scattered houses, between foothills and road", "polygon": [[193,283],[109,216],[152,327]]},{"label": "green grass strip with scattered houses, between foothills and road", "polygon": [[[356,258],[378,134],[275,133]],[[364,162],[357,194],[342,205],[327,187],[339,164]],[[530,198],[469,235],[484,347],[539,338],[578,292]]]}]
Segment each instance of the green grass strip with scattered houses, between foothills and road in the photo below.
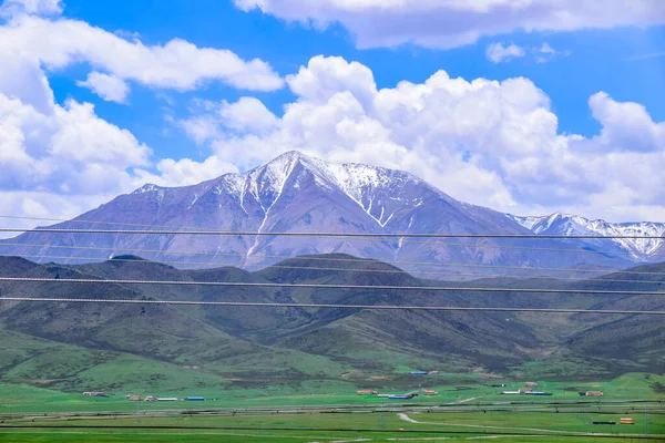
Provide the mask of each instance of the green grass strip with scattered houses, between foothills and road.
[{"label": "green grass strip with scattered houses, between foothills and road", "polygon": [[[117,377],[129,377],[119,373]],[[106,375],[104,375],[106,377]],[[110,375],[109,375],[110,377]],[[286,408],[286,406],[331,406],[331,405],[367,405],[381,406],[391,404],[441,405],[463,402],[469,408],[487,409],[491,402],[518,402],[530,404],[548,404],[556,402],[585,402],[586,404],[611,404],[615,401],[653,400],[665,402],[665,393],[659,387],[665,384],[665,377],[645,373],[631,373],[611,381],[598,382],[551,382],[539,381],[539,389],[552,392],[552,396],[502,395],[503,390],[516,390],[524,385],[523,381],[507,382],[505,388],[491,388],[480,377],[466,379],[459,374],[405,375],[407,382],[396,382],[393,388],[380,389],[385,393],[403,393],[422,388],[434,389],[436,396],[418,396],[411,400],[387,400],[371,395],[356,395],[356,387],[351,383],[329,382],[298,384],[298,389],[289,385],[274,385],[266,389],[238,389],[228,385],[195,387],[187,384],[165,383],[158,389],[139,389],[133,391],[142,395],[177,396],[203,395],[205,402],[141,402],[145,413],[168,409],[244,409],[244,408]],[[491,383],[501,383],[492,381]],[[410,387],[409,387],[410,385]],[[307,389],[308,388],[308,389]],[[95,388],[99,389],[99,388]],[[304,390],[303,390],[304,389]],[[600,390],[602,398],[580,398],[579,391]],[[106,391],[109,396],[91,398],[80,392],[65,393],[55,390],[34,388],[21,384],[0,384],[0,415],[21,413],[55,412],[131,412],[136,409],[135,402],[125,400],[126,391]],[[216,400],[213,400],[216,399]],[[472,400],[470,400],[472,399]],[[460,403],[462,404],[462,403]]]}]

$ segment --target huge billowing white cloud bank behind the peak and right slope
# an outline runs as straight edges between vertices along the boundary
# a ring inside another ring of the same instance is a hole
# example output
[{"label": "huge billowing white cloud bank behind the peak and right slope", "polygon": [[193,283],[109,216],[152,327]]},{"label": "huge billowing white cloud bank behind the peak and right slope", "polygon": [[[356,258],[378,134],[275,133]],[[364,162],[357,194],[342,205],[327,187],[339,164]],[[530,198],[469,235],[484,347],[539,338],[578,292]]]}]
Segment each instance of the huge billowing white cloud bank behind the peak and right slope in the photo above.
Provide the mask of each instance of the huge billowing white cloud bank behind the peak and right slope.
[{"label": "huge billowing white cloud bank behind the peak and right slope", "polygon": [[245,169],[299,150],[407,169],[505,212],[615,220],[665,214],[665,123],[636,103],[594,94],[590,109],[602,128],[585,137],[560,131],[550,97],[528,79],[468,81],[439,71],[381,90],[371,79],[359,63],[317,56],[287,76],[296,99],[269,125],[238,132],[219,112],[247,99],[198,106],[190,121],[213,127],[203,137],[213,151],[206,163]]}]

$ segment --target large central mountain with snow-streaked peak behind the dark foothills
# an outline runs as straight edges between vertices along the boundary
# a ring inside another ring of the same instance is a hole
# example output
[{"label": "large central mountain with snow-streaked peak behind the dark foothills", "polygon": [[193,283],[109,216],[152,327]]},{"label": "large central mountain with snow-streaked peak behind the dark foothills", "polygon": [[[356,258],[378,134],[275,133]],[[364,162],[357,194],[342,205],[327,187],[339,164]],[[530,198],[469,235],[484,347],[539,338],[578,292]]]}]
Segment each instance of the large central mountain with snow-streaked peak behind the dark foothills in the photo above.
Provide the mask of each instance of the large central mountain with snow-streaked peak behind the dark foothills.
[{"label": "large central mountain with snow-streaked peak behind the dark foothills", "polygon": [[[53,227],[531,234],[519,219],[459,202],[409,173],[327,163],[297,152],[244,174],[226,174],[193,186],[149,184]],[[25,233],[0,241],[0,254],[38,261],[76,264],[136,254],[183,268],[228,265],[257,269],[288,257],[332,253],[393,262],[439,278],[521,271],[487,266],[625,268],[634,260],[611,241],[590,248],[583,243],[546,239]]]}]

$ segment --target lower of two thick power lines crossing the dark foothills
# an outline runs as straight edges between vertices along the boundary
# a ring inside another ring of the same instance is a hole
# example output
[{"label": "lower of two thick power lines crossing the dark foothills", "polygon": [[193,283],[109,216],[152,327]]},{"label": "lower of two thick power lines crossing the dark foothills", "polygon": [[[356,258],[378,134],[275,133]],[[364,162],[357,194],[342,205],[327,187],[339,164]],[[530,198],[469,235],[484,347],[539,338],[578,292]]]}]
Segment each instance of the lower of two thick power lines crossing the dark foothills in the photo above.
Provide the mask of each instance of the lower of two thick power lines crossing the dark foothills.
[{"label": "lower of two thick power lines crossing the dark foothills", "polygon": [[95,298],[39,298],[0,297],[0,301],[34,301],[54,303],[111,303],[111,305],[174,305],[174,306],[219,306],[254,308],[320,308],[320,309],[367,309],[367,310],[413,310],[413,311],[480,311],[480,312],[540,312],[540,313],[601,313],[626,316],[665,316],[665,311],[633,311],[618,309],[560,309],[560,308],[493,308],[458,306],[399,306],[399,305],[329,305],[329,303],[275,303],[263,301],[195,301],[195,300],[132,300]]}]

